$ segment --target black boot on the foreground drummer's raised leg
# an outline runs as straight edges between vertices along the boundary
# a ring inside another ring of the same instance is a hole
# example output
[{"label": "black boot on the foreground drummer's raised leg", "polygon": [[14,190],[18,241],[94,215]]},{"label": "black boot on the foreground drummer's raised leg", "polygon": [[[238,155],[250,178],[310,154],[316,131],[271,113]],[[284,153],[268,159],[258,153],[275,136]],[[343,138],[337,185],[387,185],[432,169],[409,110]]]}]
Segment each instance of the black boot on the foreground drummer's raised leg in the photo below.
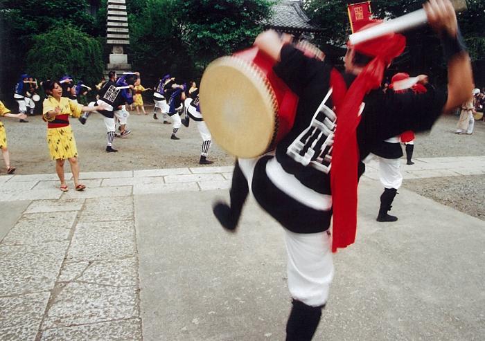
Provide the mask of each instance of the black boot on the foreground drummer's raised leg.
[{"label": "black boot on the foreground drummer's raised leg", "polygon": [[234,232],[238,226],[247,194],[249,194],[247,180],[237,162],[232,174],[231,190],[229,190],[229,194],[231,196],[231,205],[229,206],[227,203],[217,201],[212,207],[212,212],[223,228]]}]

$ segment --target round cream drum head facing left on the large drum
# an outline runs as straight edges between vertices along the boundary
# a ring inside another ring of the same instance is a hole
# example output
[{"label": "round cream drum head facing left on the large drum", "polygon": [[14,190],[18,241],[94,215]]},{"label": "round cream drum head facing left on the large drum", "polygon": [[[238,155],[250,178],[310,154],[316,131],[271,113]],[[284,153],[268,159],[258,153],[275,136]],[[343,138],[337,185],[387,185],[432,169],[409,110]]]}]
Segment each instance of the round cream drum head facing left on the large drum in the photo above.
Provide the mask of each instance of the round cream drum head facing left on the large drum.
[{"label": "round cream drum head facing left on the large drum", "polygon": [[254,158],[270,148],[278,104],[257,66],[233,56],[215,59],[202,75],[199,95],[213,139],[230,154]]}]

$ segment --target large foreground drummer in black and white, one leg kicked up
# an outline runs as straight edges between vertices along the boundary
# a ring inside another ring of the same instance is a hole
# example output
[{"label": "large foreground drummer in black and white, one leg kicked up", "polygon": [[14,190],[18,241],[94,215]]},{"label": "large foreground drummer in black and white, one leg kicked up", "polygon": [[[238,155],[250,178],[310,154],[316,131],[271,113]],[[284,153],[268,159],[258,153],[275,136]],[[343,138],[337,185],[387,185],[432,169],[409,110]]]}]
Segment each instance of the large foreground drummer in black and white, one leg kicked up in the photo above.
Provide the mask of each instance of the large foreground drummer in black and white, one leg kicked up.
[{"label": "large foreground drummer in black and white, one leg kicked up", "polygon": [[[448,0],[431,1],[425,5],[425,10],[430,25],[441,35],[443,42],[448,62],[448,97],[446,91],[436,90],[429,85],[427,93],[419,97],[413,93],[396,97],[375,89],[382,82],[384,68],[391,62],[389,59],[396,57],[404,48],[400,46],[403,42],[399,39],[387,42],[386,36],[367,42],[369,46],[382,42],[382,48],[371,48],[367,55],[356,54],[356,50],[364,50],[360,47],[367,43],[349,46],[345,59],[347,84],[362,84],[360,81],[365,80],[367,75],[373,76],[372,72],[368,73],[371,69],[366,68],[367,63],[369,66],[376,65],[376,62],[384,65],[379,72],[380,80],[370,84],[370,92],[364,98],[365,107],[357,131],[348,130],[349,136],[353,135],[357,142],[356,146],[351,147],[358,147],[355,163],[349,159],[350,163],[354,163],[355,174],[351,176],[355,178],[364,172],[361,160],[376,143],[405,130],[430,129],[442,112],[457,107],[468,98],[472,89],[470,57],[457,33],[455,11]],[[283,44],[274,31],[259,35],[255,44],[278,61],[274,71],[299,95],[297,113],[292,130],[276,146],[275,156],[238,160],[229,191],[230,205],[218,202],[213,212],[224,228],[235,230],[246,197],[252,190],[259,205],[281,223],[288,252],[288,288],[293,299],[286,340],[311,340],[333,279],[330,248],[335,250],[337,245],[336,216],[333,219],[333,242],[330,242],[328,234],[333,210],[337,208],[338,187],[334,187],[333,181],[330,189],[330,168],[337,165],[337,144],[333,145],[333,138],[337,137],[334,136],[335,122],[339,117],[342,120],[349,118],[345,116],[346,105],[357,110],[362,106],[360,100],[353,103],[345,101],[349,99],[349,94],[355,93],[355,87],[346,91],[342,102],[342,96],[337,95],[342,93],[339,77],[328,62],[308,58],[290,44]],[[390,50],[396,53],[385,56]],[[330,82],[335,96],[330,96]],[[364,86],[364,90],[367,88]],[[332,110],[334,105],[336,113]],[[342,128],[346,122],[342,120],[337,123],[337,134],[344,133],[346,136]],[[347,153],[348,149],[344,150]],[[312,154],[314,151],[315,154]],[[342,167],[331,169],[332,172],[337,172],[337,169],[340,172]],[[356,186],[357,183],[351,185]],[[352,210],[355,212],[350,212]],[[346,213],[356,215],[356,207],[349,208]],[[346,245],[349,243],[338,247]]]}]

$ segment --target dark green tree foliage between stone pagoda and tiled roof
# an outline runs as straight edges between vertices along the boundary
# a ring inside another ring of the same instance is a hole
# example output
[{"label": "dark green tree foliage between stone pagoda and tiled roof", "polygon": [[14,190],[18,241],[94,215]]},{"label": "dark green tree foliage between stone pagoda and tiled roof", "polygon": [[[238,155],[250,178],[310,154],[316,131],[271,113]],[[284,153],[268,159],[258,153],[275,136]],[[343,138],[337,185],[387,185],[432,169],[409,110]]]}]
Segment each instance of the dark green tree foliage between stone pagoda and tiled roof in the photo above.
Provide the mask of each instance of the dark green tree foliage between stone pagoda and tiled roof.
[{"label": "dark green tree foliage between stone pagoda and tiled roof", "polygon": [[133,64],[154,80],[200,77],[211,60],[250,46],[269,15],[266,0],[146,0],[130,15]]}]

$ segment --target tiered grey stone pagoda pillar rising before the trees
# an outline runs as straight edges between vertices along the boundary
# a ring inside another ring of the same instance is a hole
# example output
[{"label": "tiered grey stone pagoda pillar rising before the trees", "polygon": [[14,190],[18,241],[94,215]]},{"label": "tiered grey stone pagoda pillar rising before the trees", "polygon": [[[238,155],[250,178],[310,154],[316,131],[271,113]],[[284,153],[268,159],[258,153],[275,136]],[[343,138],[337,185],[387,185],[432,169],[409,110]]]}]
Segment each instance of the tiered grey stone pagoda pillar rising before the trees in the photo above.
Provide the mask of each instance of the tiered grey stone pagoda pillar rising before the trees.
[{"label": "tiered grey stone pagoda pillar rising before the trees", "polygon": [[125,0],[108,0],[106,37],[107,44],[111,47],[107,71],[131,71],[132,66],[128,64],[128,56],[123,50],[123,46],[130,45]]}]

